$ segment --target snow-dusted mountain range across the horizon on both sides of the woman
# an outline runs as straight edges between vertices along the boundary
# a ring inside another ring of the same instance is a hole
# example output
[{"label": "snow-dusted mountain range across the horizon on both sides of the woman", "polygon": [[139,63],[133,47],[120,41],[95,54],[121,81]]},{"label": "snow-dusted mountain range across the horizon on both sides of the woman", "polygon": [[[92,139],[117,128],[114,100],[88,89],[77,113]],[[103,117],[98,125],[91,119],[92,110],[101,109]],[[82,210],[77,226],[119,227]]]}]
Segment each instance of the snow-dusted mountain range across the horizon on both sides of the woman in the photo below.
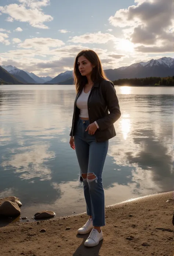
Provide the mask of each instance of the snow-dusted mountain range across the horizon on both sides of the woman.
[{"label": "snow-dusted mountain range across the horizon on both sides of the woman", "polygon": [[[16,84],[18,81],[18,84],[73,84],[73,71],[66,71],[52,78],[50,76],[39,77],[32,72],[29,73],[28,71],[23,71],[11,65],[0,66],[0,68],[0,80],[9,83]],[[7,77],[8,74],[9,77]],[[148,62],[139,62],[130,66],[106,69],[105,74],[111,81],[124,78],[174,76],[174,59],[170,57],[163,57],[158,60],[152,59]]]}]

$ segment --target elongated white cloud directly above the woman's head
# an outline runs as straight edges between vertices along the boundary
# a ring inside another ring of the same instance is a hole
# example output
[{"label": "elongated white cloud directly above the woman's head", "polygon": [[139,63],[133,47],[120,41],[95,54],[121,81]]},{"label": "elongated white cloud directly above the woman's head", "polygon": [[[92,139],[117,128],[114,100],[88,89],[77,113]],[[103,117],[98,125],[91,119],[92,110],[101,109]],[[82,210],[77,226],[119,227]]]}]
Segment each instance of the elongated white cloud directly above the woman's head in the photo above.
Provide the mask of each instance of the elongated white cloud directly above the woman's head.
[{"label": "elongated white cloud directly above the woman's head", "polygon": [[97,33],[86,33],[81,36],[74,36],[71,40],[68,40],[68,42],[73,43],[98,43],[98,44],[105,44],[109,41],[115,41],[116,37],[109,34],[109,33],[101,33],[101,31]]}]

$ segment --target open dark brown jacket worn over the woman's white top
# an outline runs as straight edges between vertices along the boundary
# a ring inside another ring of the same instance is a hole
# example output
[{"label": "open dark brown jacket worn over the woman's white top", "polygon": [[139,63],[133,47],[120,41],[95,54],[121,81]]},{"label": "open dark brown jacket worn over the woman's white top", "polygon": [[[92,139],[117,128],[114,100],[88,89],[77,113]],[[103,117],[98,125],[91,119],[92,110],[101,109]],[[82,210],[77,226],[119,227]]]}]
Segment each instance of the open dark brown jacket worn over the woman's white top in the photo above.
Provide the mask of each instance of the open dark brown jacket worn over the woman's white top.
[{"label": "open dark brown jacket worn over the woman's white top", "polygon": [[[81,91],[77,93],[74,102],[70,136],[75,135],[76,123],[80,114],[80,109],[76,106],[76,101],[80,93]],[[94,83],[88,97],[88,115],[90,124],[96,121],[99,126],[99,129],[94,134],[96,141],[105,141],[116,136],[113,123],[120,118],[121,112],[115,87],[109,80]]]}]

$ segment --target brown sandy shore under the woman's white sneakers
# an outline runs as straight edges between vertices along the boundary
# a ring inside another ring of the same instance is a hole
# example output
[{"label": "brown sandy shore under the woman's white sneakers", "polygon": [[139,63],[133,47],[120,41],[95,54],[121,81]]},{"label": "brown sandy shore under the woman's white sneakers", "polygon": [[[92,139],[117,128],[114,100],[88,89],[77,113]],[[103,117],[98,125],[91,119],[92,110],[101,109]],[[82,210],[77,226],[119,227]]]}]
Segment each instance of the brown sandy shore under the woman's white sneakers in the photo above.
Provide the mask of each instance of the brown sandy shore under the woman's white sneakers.
[{"label": "brown sandy shore under the woman's white sneakers", "polygon": [[0,227],[0,256],[173,256],[174,205],[166,202],[173,195],[166,192],[106,207],[104,240],[93,248],[84,246],[88,234],[77,235],[86,214],[10,223]]}]

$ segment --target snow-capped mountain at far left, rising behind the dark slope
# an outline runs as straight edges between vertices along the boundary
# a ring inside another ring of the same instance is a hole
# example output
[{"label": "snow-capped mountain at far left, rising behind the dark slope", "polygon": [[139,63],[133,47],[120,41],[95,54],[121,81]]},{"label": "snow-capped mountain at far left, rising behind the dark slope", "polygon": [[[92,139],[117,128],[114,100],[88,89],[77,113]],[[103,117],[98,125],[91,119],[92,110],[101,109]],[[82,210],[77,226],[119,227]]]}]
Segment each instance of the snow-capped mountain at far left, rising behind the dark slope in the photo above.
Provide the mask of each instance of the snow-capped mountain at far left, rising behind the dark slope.
[{"label": "snow-capped mountain at far left, rising behind the dark slope", "polygon": [[36,83],[35,80],[32,77],[30,77],[22,69],[16,68],[15,66],[11,66],[11,65],[2,66],[2,67],[22,83],[31,83],[31,84]]}]

